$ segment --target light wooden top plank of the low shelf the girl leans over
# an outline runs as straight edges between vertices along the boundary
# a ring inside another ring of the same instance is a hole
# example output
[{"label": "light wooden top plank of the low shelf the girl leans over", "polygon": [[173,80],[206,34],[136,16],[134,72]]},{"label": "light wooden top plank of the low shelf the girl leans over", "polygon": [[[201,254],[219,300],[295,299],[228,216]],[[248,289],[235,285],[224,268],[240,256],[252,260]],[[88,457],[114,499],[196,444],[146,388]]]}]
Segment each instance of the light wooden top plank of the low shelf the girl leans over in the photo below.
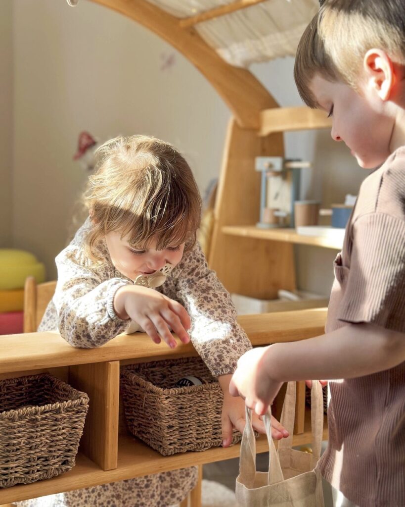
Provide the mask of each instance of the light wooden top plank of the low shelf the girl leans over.
[{"label": "light wooden top plank of the low shelf the girl leans over", "polygon": [[[311,338],[322,333],[325,309],[243,315],[238,322],[253,345],[288,342]],[[70,346],[58,333],[25,333],[0,336],[2,354],[0,374],[43,368],[103,363],[142,358],[144,362],[198,355],[191,343],[170,349],[166,343],[155,344],[143,333],[118,335],[102,347],[79,349]]]}]

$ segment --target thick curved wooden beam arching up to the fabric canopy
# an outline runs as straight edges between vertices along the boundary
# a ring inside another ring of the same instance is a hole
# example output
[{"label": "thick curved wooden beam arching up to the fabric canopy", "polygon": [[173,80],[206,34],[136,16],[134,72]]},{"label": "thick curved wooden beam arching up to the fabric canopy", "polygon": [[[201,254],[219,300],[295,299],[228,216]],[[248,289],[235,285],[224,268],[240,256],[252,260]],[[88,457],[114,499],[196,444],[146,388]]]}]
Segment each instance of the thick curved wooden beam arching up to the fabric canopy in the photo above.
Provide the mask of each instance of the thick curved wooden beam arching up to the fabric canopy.
[{"label": "thick curved wooden beam arching up to the fabric canopy", "polygon": [[178,18],[146,0],[91,1],[137,21],[180,51],[217,90],[240,127],[258,129],[260,112],[278,107],[249,70],[226,63],[194,28],[180,28]]}]

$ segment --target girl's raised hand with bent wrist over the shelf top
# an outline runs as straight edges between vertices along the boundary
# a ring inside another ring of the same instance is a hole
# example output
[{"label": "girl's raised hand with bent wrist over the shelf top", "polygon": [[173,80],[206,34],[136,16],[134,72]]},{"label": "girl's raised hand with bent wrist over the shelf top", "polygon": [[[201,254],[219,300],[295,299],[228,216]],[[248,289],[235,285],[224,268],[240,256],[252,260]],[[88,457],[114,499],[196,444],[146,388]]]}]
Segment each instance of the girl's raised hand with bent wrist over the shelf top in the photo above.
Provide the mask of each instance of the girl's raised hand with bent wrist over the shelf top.
[{"label": "girl's raised hand with bent wrist over the shelf top", "polygon": [[183,343],[190,341],[190,317],[184,306],[149,287],[120,287],[114,296],[114,311],[121,319],[137,322],[155,343],[163,339],[169,347],[176,347],[169,326]]}]

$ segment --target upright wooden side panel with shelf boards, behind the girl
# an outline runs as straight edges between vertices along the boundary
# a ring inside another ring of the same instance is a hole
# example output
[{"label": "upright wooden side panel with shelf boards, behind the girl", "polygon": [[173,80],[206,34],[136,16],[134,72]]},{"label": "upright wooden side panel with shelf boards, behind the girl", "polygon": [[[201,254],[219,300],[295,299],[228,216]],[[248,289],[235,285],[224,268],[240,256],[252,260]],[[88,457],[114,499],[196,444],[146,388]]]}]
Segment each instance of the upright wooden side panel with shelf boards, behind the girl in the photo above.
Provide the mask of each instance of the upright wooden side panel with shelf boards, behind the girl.
[{"label": "upright wooden side panel with shelf boards, behind the girl", "polygon": [[257,157],[284,157],[283,133],[330,128],[331,119],[308,107],[262,110],[259,127],[231,120],[225,141],[208,256],[210,267],[231,294],[276,300],[297,289],[294,244],[340,249],[340,238],[306,236],[290,229],[261,229],[261,177]]}]

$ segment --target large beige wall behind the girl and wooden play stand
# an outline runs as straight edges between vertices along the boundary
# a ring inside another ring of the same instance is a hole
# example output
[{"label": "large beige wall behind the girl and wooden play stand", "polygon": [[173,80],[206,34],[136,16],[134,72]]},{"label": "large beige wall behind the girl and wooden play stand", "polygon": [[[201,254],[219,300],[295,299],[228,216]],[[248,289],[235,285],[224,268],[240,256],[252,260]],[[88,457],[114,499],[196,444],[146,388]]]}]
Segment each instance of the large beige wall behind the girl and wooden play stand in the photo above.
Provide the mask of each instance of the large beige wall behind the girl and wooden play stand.
[{"label": "large beige wall behind the girl and wooden play stand", "polygon": [[[14,245],[34,252],[53,278],[87,177],[72,160],[81,130],[100,140],[133,133],[169,140],[204,191],[218,175],[229,111],[187,60],[119,14],[83,0],[74,9],[65,0],[3,2],[14,7]],[[302,104],[292,70],[292,58],[253,66],[283,106]],[[326,131],[289,134],[286,146],[287,156],[314,163],[302,198],[342,202],[366,175]],[[297,247],[299,286],[328,294],[335,255]]]}]

